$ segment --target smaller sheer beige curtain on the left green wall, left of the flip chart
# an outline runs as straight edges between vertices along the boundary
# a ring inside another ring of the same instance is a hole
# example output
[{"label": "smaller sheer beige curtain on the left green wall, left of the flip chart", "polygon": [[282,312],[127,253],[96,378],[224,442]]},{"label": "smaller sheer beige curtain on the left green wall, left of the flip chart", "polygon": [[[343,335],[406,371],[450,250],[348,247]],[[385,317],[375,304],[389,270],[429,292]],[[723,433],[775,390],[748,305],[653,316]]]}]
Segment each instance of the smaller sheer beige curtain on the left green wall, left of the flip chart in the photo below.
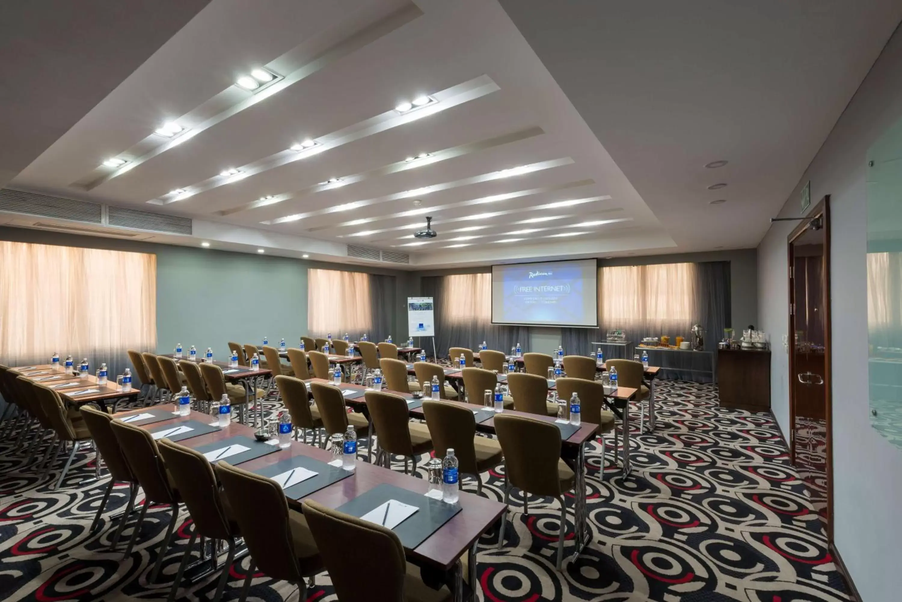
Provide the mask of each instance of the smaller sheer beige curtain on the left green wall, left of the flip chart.
[{"label": "smaller sheer beige curtain on the left green wall, left of the flip chart", "polygon": [[[341,270],[307,271],[307,328],[311,335],[349,332],[373,338],[370,274]],[[378,340],[378,339],[377,339]]]}]

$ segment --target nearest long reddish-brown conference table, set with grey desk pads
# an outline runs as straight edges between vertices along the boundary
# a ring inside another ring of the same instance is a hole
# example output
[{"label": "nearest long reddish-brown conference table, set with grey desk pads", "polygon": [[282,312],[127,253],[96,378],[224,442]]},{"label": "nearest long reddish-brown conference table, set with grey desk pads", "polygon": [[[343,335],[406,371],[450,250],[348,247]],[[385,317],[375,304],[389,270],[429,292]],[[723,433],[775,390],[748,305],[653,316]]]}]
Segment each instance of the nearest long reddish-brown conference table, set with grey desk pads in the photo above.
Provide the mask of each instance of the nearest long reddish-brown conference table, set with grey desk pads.
[{"label": "nearest long reddish-brown conference table, set with grey desk pads", "polygon": [[[115,418],[124,418],[142,412],[146,412],[146,409],[120,412],[115,414]],[[171,419],[163,421],[154,421],[143,425],[136,423],[135,425],[148,431],[161,431],[165,430],[166,427],[177,427],[183,422],[196,421],[212,424],[214,420],[215,418],[209,414],[192,410],[188,416],[173,416]],[[244,436],[253,440],[253,433],[254,429],[252,427],[238,422],[231,422],[225,428],[217,428],[216,431],[189,437],[188,439],[181,439],[179,440],[179,445],[198,449],[215,444],[218,441],[230,440],[237,436]],[[278,440],[273,441],[276,442],[275,445],[278,445]],[[326,463],[336,460],[336,457],[333,457],[330,450],[319,449],[299,441],[291,441],[287,449],[278,449],[258,458],[238,462],[236,466],[260,474],[264,468],[272,467],[275,464],[299,456],[306,456]],[[315,500],[330,508],[338,508],[371,489],[382,485],[400,487],[415,494],[425,494],[428,490],[428,481],[426,479],[411,477],[389,468],[374,466],[361,461],[361,458],[357,458],[354,474],[351,477],[346,477],[331,485],[324,486],[304,497],[286,495],[286,498],[290,508],[299,512],[303,510],[301,503],[304,499]],[[483,533],[486,533],[498,521],[502,513],[506,511],[507,506],[501,502],[463,490],[460,492],[458,505],[461,508],[459,513],[440,526],[437,531],[429,535],[415,548],[405,548],[404,552],[414,564],[450,571],[453,576],[452,593],[454,599],[462,601],[464,599],[464,581],[460,559],[465,553],[469,554],[468,575],[470,588],[475,599],[477,543]]]}]

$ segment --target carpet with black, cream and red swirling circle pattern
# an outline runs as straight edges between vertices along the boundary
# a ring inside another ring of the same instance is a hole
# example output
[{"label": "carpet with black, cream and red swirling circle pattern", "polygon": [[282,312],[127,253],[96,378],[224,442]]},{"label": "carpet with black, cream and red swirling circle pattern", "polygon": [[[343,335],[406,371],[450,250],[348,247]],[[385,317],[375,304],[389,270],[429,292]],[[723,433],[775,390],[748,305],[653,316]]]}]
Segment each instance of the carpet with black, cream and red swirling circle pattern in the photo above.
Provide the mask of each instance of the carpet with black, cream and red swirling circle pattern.
[{"label": "carpet with black, cream and red swirling circle pattern", "polygon": [[[593,543],[579,560],[554,568],[557,501],[512,495],[502,550],[497,529],[481,542],[481,600],[613,600],[617,602],[802,602],[850,599],[826,549],[805,486],[788,465],[787,449],[770,414],[717,406],[711,384],[658,384],[658,430],[630,438],[634,468],[621,478],[601,446],[587,450],[587,497]],[[272,412],[276,404],[266,403]],[[639,417],[639,408],[633,413]],[[64,486],[51,490],[60,466],[39,478],[22,455],[0,447],[0,593],[8,601],[163,600],[184,546],[189,516],[182,512],[156,584],[148,584],[167,508],[147,513],[130,558],[124,544],[108,551],[115,514],[127,487],[114,489],[95,533],[87,533],[106,479],[94,477],[93,451],[79,452]],[[61,462],[60,462],[61,465]],[[602,477],[603,468],[603,480]],[[492,472],[483,495],[501,497],[502,473]],[[486,477],[483,475],[483,477]],[[473,490],[473,486],[467,486]],[[139,497],[140,499],[140,497]],[[568,498],[568,506],[572,497]],[[134,520],[134,519],[133,519]],[[572,544],[572,513],[568,542]],[[126,527],[124,541],[131,534]],[[236,562],[224,599],[235,600],[248,566]],[[179,599],[210,599],[218,572],[181,588]],[[326,574],[308,600],[335,595]],[[263,575],[249,600],[296,600],[297,589]]]}]

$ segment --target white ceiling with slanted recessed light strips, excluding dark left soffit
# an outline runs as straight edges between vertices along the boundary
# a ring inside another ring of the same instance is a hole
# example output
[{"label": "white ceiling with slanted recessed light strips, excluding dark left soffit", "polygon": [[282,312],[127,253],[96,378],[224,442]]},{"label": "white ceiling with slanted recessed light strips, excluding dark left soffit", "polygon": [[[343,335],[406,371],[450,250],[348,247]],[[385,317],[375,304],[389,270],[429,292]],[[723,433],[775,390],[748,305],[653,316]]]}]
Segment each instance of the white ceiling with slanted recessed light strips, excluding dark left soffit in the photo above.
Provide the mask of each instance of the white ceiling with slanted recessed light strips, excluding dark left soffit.
[{"label": "white ceiling with slanted recessed light strips, excluding dark left soffit", "polygon": [[900,16],[502,4],[212,0],[7,186],[195,219],[161,242],[410,268],[749,247]]}]

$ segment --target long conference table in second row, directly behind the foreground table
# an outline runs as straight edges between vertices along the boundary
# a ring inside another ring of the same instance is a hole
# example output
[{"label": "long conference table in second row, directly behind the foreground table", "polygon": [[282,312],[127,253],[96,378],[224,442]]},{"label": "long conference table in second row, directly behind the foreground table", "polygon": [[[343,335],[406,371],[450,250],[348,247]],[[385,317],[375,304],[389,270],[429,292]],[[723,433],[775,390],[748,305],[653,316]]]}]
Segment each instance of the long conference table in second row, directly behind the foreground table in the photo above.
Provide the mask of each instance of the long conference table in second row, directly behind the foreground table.
[{"label": "long conference table in second row, directly behind the foreground table", "polygon": [[[310,378],[304,381],[306,384],[310,383],[323,383],[323,384],[332,384],[327,380],[323,380],[321,378]],[[332,384],[335,386],[335,384]],[[350,383],[342,383],[339,389],[345,391],[368,391],[365,386],[360,384],[350,384]],[[398,395],[408,401],[417,400],[418,398],[414,397],[413,394],[409,393],[400,393],[398,391],[391,391],[389,389],[382,389],[384,393],[390,393],[394,395]],[[631,389],[631,391],[635,392],[635,389]],[[310,397],[312,398],[312,394]],[[421,399],[421,398],[420,398]],[[428,400],[426,400],[428,401]],[[474,403],[464,403],[464,402],[454,402],[461,403],[466,408],[473,410],[475,412],[479,412],[480,410],[484,410],[483,405],[474,404]],[[367,420],[370,422],[370,432],[369,436],[372,440],[373,438],[373,421],[370,420],[370,413],[366,407],[366,398],[364,395],[359,397],[355,397],[354,399],[348,399],[345,396],[345,405],[348,407],[354,408],[355,410],[359,410],[364,413]],[[526,418],[532,418],[535,420],[549,422],[555,424],[557,422],[557,417],[555,416],[540,416],[538,414],[530,414],[527,412],[516,412],[514,410],[504,410],[503,413],[513,416],[524,416]],[[410,418],[415,418],[418,420],[426,420],[426,416],[423,413],[422,405],[419,404],[415,408],[410,408],[409,412]],[[476,422],[476,431],[485,432],[495,434],[495,425],[494,418],[490,417],[486,420]],[[582,422],[579,426],[579,429],[575,431],[572,435],[567,437],[566,439],[561,439],[561,458],[566,461],[570,468],[573,468],[575,473],[575,485],[574,485],[574,499],[575,499],[575,533],[582,533],[581,537],[576,539],[576,549],[573,554],[573,560],[575,560],[580,553],[582,553],[585,545],[591,541],[591,533],[587,525],[587,512],[585,505],[585,443],[586,441],[592,440],[595,436],[595,433],[598,432],[598,425],[593,424],[591,422]],[[377,433],[378,434],[378,433]],[[580,494],[579,492],[582,492]],[[472,569],[471,569],[472,570]],[[472,581],[471,581],[472,583]]]}]

